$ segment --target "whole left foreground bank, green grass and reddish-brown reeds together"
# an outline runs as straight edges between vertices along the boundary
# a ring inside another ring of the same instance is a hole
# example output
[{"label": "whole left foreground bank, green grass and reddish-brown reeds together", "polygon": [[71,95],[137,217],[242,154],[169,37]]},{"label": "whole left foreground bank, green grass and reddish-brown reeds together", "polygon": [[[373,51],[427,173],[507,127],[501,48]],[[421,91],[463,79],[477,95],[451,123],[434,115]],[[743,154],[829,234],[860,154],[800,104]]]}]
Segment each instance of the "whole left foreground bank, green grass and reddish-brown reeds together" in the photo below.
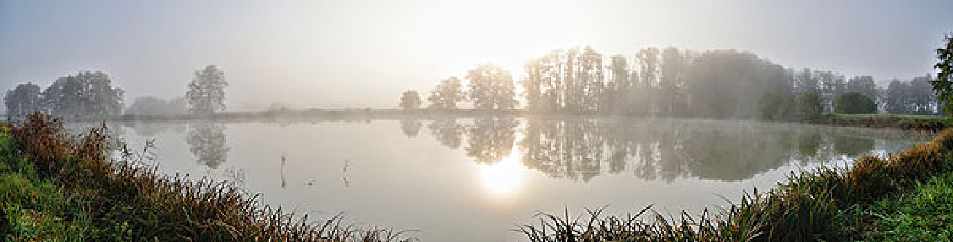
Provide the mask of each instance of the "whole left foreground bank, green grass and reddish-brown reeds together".
[{"label": "whole left foreground bank, green grass and reddish-brown reeds together", "polygon": [[[105,127],[103,127],[105,128]],[[393,241],[340,216],[312,223],[224,182],[156,174],[103,128],[70,137],[32,115],[0,132],[0,236],[10,241]],[[3,240],[3,239],[0,239]]]}]

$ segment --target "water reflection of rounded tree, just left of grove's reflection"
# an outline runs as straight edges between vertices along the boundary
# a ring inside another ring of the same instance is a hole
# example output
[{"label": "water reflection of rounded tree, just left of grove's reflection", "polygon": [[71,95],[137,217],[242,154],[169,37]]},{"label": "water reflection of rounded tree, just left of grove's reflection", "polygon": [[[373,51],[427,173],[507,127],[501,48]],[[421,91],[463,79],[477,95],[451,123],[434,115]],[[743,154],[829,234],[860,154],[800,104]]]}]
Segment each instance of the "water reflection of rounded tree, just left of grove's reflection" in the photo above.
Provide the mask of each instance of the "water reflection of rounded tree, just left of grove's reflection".
[{"label": "water reflection of rounded tree, just left of grove's reflection", "polygon": [[510,155],[519,121],[510,117],[481,117],[467,128],[467,156],[477,163],[496,163]]}]

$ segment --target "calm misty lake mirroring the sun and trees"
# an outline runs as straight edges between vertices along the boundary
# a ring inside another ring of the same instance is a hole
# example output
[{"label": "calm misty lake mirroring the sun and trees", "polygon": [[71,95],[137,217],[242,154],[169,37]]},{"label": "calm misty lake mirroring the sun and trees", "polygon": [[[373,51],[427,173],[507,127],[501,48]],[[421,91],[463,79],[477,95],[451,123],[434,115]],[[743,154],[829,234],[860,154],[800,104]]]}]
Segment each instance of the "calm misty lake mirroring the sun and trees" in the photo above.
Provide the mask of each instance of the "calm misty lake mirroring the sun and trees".
[{"label": "calm misty lake mirroring the sun and trees", "polygon": [[521,241],[538,212],[718,210],[791,172],[917,143],[896,130],[661,118],[113,122],[159,171],[423,241]]}]

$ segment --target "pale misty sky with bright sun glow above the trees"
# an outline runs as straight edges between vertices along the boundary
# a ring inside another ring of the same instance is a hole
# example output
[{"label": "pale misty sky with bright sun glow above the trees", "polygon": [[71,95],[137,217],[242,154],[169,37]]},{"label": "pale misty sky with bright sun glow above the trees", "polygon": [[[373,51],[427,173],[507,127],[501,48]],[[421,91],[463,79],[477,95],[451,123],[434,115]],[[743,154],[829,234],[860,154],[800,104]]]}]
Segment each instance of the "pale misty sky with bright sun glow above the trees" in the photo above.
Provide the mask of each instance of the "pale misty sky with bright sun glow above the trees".
[{"label": "pale misty sky with bright sun glow above the trees", "polygon": [[[395,108],[399,93],[493,62],[515,75],[591,45],[748,50],[882,81],[935,73],[953,1],[8,1],[0,88],[102,70],[136,97],[180,96],[219,65],[230,110]],[[515,78],[518,78],[515,76]]]}]

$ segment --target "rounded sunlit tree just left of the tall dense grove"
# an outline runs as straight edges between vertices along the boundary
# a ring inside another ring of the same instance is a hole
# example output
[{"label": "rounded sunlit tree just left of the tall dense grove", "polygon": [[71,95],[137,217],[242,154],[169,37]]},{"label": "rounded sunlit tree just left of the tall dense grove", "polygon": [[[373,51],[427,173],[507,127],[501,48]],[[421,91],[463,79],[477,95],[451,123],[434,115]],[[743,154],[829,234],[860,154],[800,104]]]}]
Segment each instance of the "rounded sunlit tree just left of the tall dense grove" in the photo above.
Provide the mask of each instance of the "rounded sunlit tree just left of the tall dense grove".
[{"label": "rounded sunlit tree just left of the tall dense grove", "polygon": [[513,109],[517,106],[516,86],[510,72],[500,65],[481,64],[467,71],[467,93],[476,109]]}]

